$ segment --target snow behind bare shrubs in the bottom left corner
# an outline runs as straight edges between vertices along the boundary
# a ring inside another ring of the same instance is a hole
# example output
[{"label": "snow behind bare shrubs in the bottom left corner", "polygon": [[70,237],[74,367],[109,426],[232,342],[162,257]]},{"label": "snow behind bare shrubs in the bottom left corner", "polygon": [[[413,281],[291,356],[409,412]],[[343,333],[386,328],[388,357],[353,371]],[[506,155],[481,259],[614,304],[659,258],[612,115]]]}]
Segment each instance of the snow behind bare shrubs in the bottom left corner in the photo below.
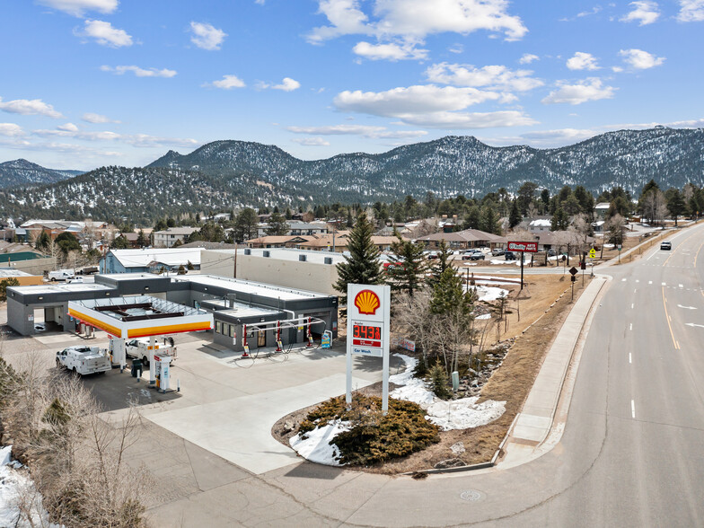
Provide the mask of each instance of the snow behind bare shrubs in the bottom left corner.
[{"label": "snow behind bare shrubs in the bottom left corner", "polygon": [[[0,448],[0,526],[59,528],[58,524],[49,524],[48,513],[41,505],[41,496],[34,488],[34,483],[24,471],[18,471],[22,464],[11,462],[12,451],[12,445]],[[26,518],[26,513],[20,512],[22,499],[31,507],[31,520]]]}]

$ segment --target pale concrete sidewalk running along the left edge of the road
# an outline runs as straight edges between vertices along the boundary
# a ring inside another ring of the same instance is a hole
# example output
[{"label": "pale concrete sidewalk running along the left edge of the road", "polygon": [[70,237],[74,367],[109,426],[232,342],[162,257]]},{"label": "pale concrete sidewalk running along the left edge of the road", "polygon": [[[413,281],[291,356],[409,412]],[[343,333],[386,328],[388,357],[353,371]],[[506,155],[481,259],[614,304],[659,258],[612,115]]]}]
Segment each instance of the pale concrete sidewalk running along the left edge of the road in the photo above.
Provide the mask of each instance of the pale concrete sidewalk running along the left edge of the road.
[{"label": "pale concrete sidewalk running along the left edge of the road", "polygon": [[[545,357],[523,409],[515,418],[504,446],[506,456],[497,464],[497,468],[507,469],[528,462],[549,451],[559,442],[562,427],[555,424],[557,427],[551,435],[550,430],[553,429],[568,367],[585,323],[588,324],[587,319],[594,301],[606,282],[606,277],[592,279],[569,312],[567,320]],[[571,386],[566,389],[571,393]]]}]

